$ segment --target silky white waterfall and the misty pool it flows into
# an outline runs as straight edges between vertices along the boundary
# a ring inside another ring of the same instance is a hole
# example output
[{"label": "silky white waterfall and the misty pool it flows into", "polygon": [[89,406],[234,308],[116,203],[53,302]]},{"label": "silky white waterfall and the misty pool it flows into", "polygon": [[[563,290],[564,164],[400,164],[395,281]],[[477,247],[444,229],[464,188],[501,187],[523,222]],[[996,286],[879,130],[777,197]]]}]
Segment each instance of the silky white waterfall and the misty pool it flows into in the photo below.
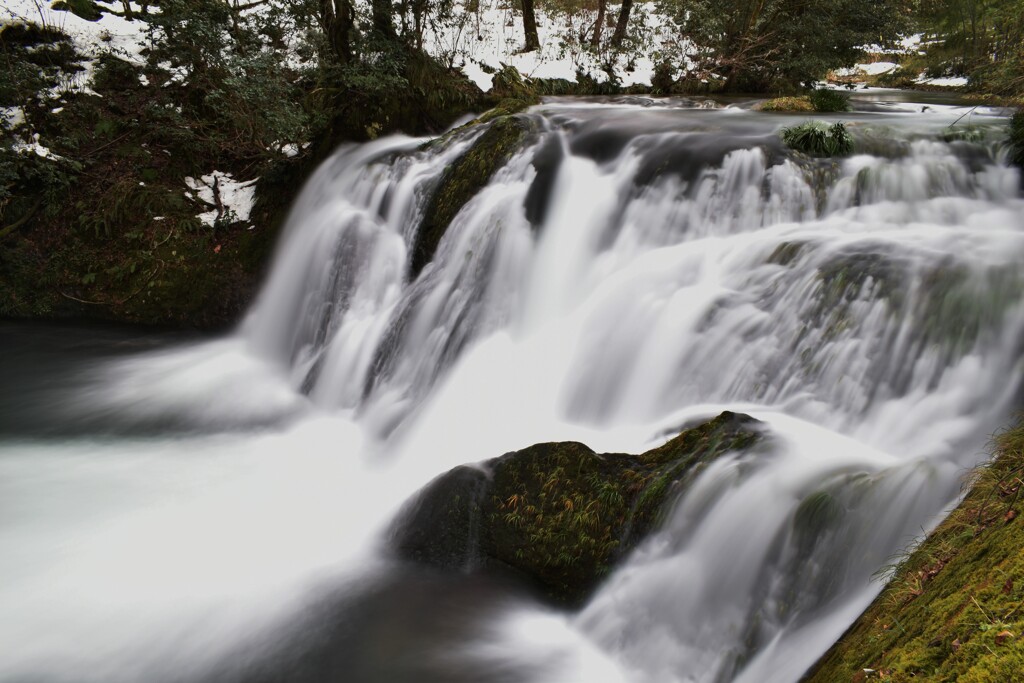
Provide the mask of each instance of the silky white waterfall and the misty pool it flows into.
[{"label": "silky white waterfall and the misty pool it flows into", "polygon": [[[797,680],[1019,407],[1004,121],[870,109],[833,162],[784,116],[549,102],[416,278],[479,131],[344,147],[236,334],[5,326],[0,680]],[[708,468],[579,612],[389,555],[451,467],[721,410],[771,449]]]}]

